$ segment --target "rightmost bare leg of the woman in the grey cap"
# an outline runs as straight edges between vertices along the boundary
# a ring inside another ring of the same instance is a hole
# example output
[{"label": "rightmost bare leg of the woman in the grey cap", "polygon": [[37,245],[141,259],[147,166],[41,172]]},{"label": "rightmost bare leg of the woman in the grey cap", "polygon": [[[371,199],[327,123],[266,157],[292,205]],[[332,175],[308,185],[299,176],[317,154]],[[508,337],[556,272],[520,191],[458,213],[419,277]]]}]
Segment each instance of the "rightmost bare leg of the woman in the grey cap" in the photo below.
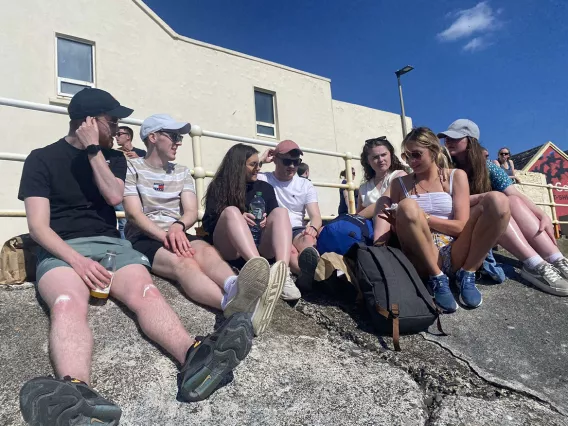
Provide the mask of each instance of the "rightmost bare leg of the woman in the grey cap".
[{"label": "rightmost bare leg of the woman in the grey cap", "polygon": [[511,215],[528,244],[545,259],[554,253],[558,253],[558,247],[548,234],[538,232],[540,222],[524,201],[519,197],[510,196],[509,203],[511,204]]}]

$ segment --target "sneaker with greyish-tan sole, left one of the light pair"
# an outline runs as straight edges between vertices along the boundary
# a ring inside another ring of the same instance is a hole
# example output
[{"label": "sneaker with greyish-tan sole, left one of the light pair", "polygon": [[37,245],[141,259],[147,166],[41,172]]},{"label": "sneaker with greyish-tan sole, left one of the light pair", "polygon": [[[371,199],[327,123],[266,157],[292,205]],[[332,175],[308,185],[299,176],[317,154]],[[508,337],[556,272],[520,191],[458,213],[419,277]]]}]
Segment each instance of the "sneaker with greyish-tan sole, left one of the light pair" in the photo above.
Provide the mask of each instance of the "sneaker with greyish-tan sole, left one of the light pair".
[{"label": "sneaker with greyish-tan sole, left one of the light pair", "polygon": [[237,278],[237,292],[225,306],[223,314],[229,318],[236,312],[254,312],[258,300],[268,287],[270,265],[263,257],[250,259]]}]

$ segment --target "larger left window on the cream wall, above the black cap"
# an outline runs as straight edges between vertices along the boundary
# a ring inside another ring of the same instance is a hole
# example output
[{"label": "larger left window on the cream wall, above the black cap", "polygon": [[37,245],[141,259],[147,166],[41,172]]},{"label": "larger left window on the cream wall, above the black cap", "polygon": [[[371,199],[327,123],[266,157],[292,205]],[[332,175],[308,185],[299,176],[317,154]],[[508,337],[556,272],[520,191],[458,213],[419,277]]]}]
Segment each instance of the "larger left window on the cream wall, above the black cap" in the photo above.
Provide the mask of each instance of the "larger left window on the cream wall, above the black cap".
[{"label": "larger left window on the cream wall, above the black cap", "polygon": [[57,36],[57,94],[72,97],[95,87],[95,45]]}]

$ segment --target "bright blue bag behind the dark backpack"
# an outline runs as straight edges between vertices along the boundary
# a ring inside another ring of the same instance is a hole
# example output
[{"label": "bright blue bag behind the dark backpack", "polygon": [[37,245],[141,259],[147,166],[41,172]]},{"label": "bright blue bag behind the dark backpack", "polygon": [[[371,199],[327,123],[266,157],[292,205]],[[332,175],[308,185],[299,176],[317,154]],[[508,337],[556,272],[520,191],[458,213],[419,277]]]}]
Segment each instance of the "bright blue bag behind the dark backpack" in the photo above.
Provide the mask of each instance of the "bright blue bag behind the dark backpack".
[{"label": "bright blue bag behind the dark backpack", "polygon": [[318,237],[317,249],[320,254],[345,254],[353,245],[373,245],[373,222],[362,216],[342,214],[329,222]]}]

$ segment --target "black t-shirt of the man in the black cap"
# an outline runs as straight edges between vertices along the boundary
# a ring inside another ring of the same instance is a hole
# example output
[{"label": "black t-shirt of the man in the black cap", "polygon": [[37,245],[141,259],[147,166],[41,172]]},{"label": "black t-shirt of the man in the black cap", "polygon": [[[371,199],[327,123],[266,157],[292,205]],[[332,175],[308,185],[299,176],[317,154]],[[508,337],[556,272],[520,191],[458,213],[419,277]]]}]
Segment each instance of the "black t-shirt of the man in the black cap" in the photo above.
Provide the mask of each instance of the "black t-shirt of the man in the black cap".
[{"label": "black t-shirt of the man in the black cap", "polygon": [[[102,150],[114,175],[124,180],[126,159],[112,149]],[[109,206],[97,185],[85,150],[65,141],[33,150],[20,181],[18,198],[49,199],[49,226],[62,239],[108,236],[120,238],[114,207]]]}]

